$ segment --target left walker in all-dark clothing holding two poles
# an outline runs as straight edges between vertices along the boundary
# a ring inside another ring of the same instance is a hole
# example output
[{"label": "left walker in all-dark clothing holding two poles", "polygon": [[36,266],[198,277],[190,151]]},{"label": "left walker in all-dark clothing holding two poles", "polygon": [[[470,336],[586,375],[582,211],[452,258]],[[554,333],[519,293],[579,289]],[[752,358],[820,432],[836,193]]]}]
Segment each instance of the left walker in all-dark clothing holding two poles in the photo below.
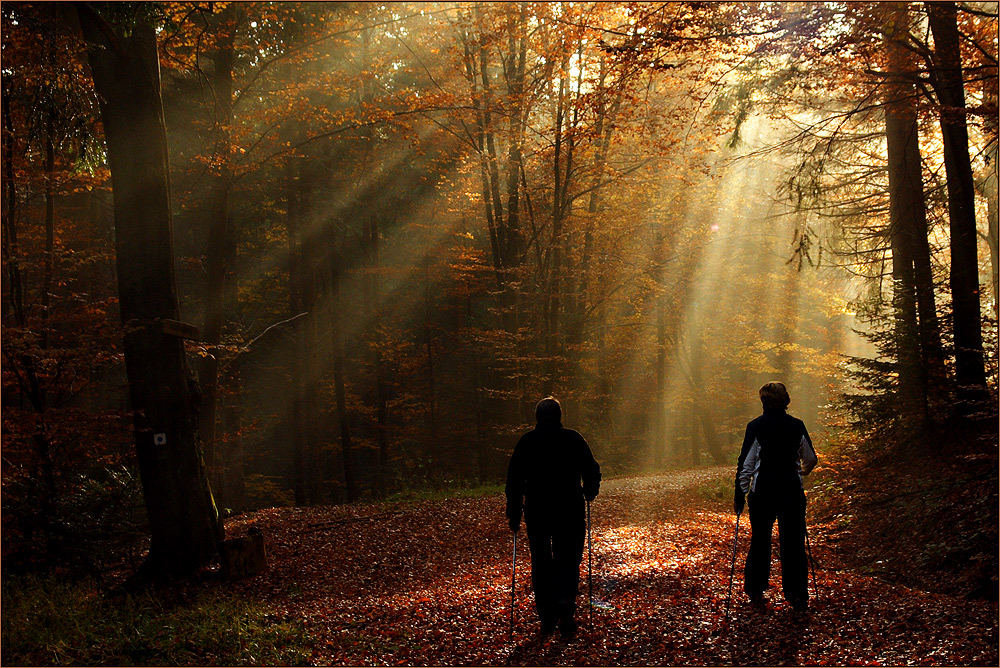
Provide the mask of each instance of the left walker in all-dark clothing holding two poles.
[{"label": "left walker in all-dark clothing holding two poles", "polygon": [[601,467],[578,432],[562,426],[562,408],[552,397],[535,407],[534,429],[514,447],[507,468],[510,530],[528,530],[531,586],[542,633],[576,631],[576,596],[586,537],[586,505],[601,486]]}]

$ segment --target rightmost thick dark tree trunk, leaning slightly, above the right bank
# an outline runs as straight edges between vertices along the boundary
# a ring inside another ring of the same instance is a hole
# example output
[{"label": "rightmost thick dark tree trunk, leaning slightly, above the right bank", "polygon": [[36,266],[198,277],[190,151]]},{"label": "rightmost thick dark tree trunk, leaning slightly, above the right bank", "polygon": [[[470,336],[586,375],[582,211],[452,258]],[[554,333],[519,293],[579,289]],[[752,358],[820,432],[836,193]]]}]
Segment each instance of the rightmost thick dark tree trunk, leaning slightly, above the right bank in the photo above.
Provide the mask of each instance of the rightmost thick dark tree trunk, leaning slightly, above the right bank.
[{"label": "rightmost thick dark tree trunk, leaning slightly, above the right bank", "polygon": [[976,236],[975,182],[969,158],[965,118],[965,86],[954,2],[927,2],[934,36],[931,81],[941,105],[941,134],[948,184],[951,228],[951,295],[955,338],[955,381],[958,412],[985,408],[986,368],[979,304],[979,257]]}]

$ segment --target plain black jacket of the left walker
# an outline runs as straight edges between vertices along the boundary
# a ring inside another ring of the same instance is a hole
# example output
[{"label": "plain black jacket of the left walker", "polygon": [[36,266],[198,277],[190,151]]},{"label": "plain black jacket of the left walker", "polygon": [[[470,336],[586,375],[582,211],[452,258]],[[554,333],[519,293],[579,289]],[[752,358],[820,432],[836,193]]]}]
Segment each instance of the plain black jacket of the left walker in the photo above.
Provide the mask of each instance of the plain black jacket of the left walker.
[{"label": "plain black jacket of the left walker", "polygon": [[507,517],[529,523],[582,516],[601,486],[601,467],[583,436],[559,421],[539,422],[514,446],[507,469]]}]

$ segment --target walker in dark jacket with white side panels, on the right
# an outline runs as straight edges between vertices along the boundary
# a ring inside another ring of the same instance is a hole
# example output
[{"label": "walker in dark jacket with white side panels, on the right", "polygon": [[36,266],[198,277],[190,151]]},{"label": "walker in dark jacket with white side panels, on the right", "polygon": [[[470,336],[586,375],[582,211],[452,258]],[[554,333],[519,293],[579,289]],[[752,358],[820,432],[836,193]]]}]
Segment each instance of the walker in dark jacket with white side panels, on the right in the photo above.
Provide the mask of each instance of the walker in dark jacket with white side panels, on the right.
[{"label": "walker in dark jacket with white side panels, on the right", "polygon": [[770,585],[771,531],[778,522],[781,588],[798,612],[808,609],[806,562],[806,495],[802,479],[816,465],[816,451],[802,420],[785,412],[788,390],[781,383],[760,388],[764,414],[747,425],[736,465],[733,510],[750,506],[750,551],[743,574],[743,588],[750,601],[764,605]]}]

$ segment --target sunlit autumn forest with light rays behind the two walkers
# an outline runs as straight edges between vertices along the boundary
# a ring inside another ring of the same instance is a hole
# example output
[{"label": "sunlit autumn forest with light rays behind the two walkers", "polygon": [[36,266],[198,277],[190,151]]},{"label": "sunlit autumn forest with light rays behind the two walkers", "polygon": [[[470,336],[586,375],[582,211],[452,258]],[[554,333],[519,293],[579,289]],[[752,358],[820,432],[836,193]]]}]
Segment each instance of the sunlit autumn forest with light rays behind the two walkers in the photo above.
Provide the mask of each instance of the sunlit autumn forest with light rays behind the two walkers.
[{"label": "sunlit autumn forest with light rays behind the two walkers", "polygon": [[735,464],[769,380],[821,455],[995,433],[995,2],[0,12],[5,569],[135,561],[155,410],[222,516],[498,483],[546,395],[605,475]]}]

